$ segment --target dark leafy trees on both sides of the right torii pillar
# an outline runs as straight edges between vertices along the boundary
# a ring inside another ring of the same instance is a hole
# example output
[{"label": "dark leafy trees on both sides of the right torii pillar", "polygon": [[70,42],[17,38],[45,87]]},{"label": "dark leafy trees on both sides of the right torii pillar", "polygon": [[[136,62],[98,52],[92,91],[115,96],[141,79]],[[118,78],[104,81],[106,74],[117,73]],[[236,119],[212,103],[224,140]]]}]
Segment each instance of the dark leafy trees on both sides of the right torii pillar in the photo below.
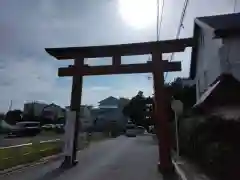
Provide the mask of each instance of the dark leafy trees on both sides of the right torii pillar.
[{"label": "dark leafy trees on both sides of the right torii pillar", "polygon": [[[174,82],[165,84],[165,90],[170,94],[166,101],[169,110],[169,121],[174,119],[174,113],[171,109],[171,97],[181,100],[185,110],[190,109],[196,102],[195,86],[183,86],[181,79],[177,78]],[[148,130],[150,125],[154,125],[154,97],[144,97],[143,92],[139,91],[130,102],[123,108],[123,114],[129,117],[133,123],[143,126]]]}]

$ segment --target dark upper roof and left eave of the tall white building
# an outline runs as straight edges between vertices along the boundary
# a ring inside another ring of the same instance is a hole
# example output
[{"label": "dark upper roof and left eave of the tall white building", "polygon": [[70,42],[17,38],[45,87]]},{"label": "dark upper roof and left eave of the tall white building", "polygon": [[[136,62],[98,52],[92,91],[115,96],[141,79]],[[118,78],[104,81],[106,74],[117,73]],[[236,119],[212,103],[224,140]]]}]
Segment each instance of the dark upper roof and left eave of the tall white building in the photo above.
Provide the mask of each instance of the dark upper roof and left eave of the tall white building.
[{"label": "dark upper roof and left eave of the tall white building", "polygon": [[196,75],[198,38],[200,29],[210,29],[213,32],[213,38],[222,38],[228,36],[240,35],[240,13],[223,14],[215,16],[198,17],[194,21],[193,43],[190,65],[190,78],[194,79]]}]

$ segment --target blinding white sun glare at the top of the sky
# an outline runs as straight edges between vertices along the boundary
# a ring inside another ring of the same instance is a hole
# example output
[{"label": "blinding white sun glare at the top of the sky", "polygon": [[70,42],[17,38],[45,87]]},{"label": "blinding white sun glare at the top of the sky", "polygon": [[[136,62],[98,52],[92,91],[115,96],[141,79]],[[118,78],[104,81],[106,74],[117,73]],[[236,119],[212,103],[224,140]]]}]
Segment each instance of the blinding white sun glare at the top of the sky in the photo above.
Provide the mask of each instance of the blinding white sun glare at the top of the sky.
[{"label": "blinding white sun glare at the top of the sky", "polygon": [[118,0],[118,8],[124,22],[136,29],[156,23],[157,0]]}]

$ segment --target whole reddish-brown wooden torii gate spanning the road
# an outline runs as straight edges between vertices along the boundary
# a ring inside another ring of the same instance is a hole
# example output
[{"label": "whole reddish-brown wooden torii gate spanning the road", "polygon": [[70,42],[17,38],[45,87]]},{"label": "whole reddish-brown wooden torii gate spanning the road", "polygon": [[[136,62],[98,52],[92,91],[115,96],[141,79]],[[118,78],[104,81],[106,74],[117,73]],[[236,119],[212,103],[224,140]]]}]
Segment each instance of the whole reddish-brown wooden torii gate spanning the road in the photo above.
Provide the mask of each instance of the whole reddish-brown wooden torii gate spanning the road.
[{"label": "whole reddish-brown wooden torii gate spanning the road", "polygon": [[[82,78],[89,75],[148,73],[153,74],[155,92],[155,121],[159,142],[159,164],[161,171],[172,169],[170,157],[170,129],[168,127],[168,110],[166,107],[166,93],[164,92],[163,72],[180,71],[181,62],[168,62],[162,60],[162,53],[184,51],[192,46],[192,39],[177,39],[156,42],[144,42],[121,45],[46,48],[46,51],[58,60],[74,59],[74,64],[58,69],[58,76],[73,76],[70,109],[80,111],[82,96]],[[144,64],[121,64],[121,56],[151,54],[152,61]],[[112,65],[93,66],[84,64],[84,58],[112,57]],[[79,121],[75,121],[72,157],[65,157],[65,164],[73,165],[76,161],[77,137]],[[72,159],[72,160],[70,160]]]}]

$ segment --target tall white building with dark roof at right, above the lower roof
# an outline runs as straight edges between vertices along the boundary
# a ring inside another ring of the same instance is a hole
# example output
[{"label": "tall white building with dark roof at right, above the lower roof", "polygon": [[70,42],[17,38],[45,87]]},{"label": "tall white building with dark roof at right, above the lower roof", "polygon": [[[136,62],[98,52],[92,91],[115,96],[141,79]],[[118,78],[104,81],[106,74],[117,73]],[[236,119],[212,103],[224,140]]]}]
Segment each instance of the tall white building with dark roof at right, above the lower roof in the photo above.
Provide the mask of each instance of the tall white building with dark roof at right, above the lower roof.
[{"label": "tall white building with dark roof at right, above the lower roof", "polygon": [[224,73],[240,80],[240,13],[196,18],[194,40],[190,78],[197,99]]}]

